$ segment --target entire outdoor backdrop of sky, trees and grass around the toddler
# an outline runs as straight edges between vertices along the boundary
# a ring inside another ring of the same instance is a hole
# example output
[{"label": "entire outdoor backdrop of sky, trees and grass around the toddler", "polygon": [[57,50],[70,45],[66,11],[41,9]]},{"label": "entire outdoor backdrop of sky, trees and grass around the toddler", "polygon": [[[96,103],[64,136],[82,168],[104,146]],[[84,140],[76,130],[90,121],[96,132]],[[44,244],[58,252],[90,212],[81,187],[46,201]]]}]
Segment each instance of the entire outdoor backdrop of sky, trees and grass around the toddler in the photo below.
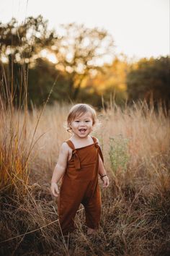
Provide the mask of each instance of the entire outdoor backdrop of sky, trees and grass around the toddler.
[{"label": "entire outdoor backdrop of sky, trees and grass around the toddler", "polygon": [[[0,255],[170,255],[169,1],[6,0],[0,22]],[[64,238],[50,181],[80,102],[110,184],[97,234],[80,205]]]}]

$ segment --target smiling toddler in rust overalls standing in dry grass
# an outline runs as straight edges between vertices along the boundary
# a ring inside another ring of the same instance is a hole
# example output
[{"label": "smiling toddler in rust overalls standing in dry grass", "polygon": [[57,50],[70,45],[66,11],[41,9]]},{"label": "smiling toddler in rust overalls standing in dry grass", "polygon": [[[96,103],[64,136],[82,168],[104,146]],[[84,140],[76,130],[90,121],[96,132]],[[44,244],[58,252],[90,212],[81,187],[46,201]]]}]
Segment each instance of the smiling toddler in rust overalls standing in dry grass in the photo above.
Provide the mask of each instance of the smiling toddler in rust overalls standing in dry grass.
[{"label": "smiling toddler in rust overalls standing in dry grass", "polygon": [[109,186],[109,178],[99,140],[90,136],[96,121],[96,111],[88,104],[76,104],[68,114],[68,131],[71,130],[72,136],[61,145],[50,187],[52,195],[58,197],[58,218],[64,235],[75,229],[74,218],[80,204],[84,205],[87,234],[93,234],[99,228],[101,195],[98,175],[104,187]]}]

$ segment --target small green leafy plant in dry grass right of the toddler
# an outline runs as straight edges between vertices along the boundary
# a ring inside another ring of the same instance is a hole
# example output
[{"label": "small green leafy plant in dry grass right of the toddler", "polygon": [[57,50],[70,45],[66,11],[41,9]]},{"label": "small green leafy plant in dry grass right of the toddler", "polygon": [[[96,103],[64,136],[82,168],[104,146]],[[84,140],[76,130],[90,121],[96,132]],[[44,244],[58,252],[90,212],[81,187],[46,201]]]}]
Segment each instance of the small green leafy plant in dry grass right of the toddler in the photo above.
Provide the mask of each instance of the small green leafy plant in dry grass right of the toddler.
[{"label": "small green leafy plant in dry grass right of the toddler", "polygon": [[121,168],[124,172],[127,169],[127,163],[130,159],[128,142],[129,139],[122,137],[121,134],[117,137],[109,137],[109,160],[114,175],[118,168]]}]

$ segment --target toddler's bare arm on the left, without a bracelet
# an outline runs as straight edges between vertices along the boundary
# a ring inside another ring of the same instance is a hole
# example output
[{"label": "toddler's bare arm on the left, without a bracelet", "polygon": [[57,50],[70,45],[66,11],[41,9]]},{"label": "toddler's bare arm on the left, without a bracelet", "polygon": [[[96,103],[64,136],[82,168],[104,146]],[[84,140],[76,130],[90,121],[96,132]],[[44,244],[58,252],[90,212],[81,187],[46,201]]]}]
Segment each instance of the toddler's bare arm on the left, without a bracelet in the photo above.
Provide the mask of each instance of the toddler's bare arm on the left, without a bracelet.
[{"label": "toddler's bare arm on the left, without a bracelet", "polygon": [[51,179],[50,191],[55,197],[57,197],[59,194],[57,183],[59,182],[64,172],[66,171],[67,160],[68,160],[68,145],[66,142],[63,142],[63,144],[61,145],[60,153],[58,155],[58,162],[54,168],[53,176]]}]

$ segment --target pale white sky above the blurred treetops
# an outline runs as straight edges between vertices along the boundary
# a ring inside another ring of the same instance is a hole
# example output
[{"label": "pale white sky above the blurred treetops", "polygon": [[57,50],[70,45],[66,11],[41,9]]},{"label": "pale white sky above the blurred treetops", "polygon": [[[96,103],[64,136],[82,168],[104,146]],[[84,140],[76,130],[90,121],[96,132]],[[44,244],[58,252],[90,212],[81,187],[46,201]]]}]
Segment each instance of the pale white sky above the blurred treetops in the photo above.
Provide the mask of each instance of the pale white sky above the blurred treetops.
[{"label": "pale white sky above the blurred treetops", "polygon": [[49,28],[76,22],[112,34],[115,52],[140,59],[167,56],[169,0],[0,0],[0,22],[42,14]]}]

